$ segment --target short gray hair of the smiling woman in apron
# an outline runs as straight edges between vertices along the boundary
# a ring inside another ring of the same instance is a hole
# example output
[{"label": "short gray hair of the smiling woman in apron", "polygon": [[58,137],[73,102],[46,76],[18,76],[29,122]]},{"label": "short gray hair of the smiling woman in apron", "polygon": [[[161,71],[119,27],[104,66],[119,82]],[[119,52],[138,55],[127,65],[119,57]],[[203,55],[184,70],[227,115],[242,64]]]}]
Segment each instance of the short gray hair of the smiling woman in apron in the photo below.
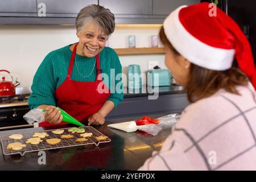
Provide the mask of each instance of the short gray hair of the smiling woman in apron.
[{"label": "short gray hair of the smiling woman in apron", "polygon": [[81,9],[76,17],[76,30],[80,31],[92,22],[96,23],[96,25],[108,36],[114,32],[114,14],[103,6],[89,5]]}]

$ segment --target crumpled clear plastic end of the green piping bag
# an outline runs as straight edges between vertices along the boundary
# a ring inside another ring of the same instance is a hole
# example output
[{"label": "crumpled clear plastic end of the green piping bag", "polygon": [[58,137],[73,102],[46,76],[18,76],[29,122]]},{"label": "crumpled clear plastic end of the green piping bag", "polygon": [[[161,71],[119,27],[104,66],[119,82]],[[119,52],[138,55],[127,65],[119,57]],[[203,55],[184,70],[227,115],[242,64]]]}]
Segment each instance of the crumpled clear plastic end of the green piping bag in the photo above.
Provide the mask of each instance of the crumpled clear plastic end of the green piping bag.
[{"label": "crumpled clear plastic end of the green piping bag", "polygon": [[43,122],[44,115],[46,113],[42,109],[31,109],[27,114],[23,115],[23,118],[31,125],[35,121],[39,123]]}]

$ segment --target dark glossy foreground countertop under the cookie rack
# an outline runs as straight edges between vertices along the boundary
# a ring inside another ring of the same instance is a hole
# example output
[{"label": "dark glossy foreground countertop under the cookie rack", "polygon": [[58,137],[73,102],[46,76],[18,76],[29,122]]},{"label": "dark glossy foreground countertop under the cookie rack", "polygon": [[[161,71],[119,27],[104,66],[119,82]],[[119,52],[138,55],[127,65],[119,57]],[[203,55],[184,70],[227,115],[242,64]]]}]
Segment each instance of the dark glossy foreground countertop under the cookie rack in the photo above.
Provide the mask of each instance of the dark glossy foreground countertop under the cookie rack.
[{"label": "dark glossy foreground countertop under the cookie rack", "polygon": [[[151,118],[158,118],[160,116],[162,114],[150,115]],[[135,119],[138,119],[138,117],[112,119],[106,121],[105,125],[94,126],[101,133],[112,139],[110,143],[101,143],[98,147],[90,144],[46,150],[46,165],[38,164],[40,157],[38,152],[30,152],[24,156],[19,154],[3,155],[1,146],[0,170],[137,170],[152,155],[152,151],[160,150],[171,130],[163,129],[158,135],[152,136],[145,135],[139,131],[126,133],[107,127],[107,124],[110,123],[133,121]],[[64,126],[1,131],[0,136],[62,127]]]}]

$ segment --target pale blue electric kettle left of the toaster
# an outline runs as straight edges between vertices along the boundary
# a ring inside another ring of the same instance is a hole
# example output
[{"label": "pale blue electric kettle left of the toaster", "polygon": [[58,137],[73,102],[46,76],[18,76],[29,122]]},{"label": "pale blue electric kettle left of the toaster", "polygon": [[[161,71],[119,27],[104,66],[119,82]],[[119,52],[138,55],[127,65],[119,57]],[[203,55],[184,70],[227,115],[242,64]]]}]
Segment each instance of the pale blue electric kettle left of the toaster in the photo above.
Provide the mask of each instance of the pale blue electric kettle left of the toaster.
[{"label": "pale blue electric kettle left of the toaster", "polygon": [[138,64],[128,66],[127,87],[129,89],[140,89],[142,87],[141,67]]}]

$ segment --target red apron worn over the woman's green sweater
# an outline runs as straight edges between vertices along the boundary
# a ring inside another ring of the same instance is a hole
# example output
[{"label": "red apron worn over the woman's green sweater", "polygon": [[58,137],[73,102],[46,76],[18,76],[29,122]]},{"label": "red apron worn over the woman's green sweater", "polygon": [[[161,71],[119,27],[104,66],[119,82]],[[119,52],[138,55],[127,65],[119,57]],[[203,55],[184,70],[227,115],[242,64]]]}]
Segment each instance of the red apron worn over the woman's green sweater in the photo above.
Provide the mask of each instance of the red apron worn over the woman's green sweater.
[{"label": "red apron worn over the woman's green sweater", "polygon": [[[55,97],[57,100],[57,106],[66,111],[72,117],[76,118],[78,121],[86,122],[90,115],[101,109],[102,105],[104,105],[105,101],[110,96],[110,90],[108,86],[104,84],[104,81],[102,81],[102,77],[100,75],[100,59],[98,55],[96,55],[96,81],[82,82],[71,80],[77,44],[72,52],[67,78],[63,84],[61,84],[55,90]],[[100,83],[102,85],[100,89],[108,90],[107,93],[102,93],[101,90],[98,92],[98,85]],[[60,124],[41,122],[39,126],[42,127],[67,124],[68,123],[65,122],[61,122]]]}]

